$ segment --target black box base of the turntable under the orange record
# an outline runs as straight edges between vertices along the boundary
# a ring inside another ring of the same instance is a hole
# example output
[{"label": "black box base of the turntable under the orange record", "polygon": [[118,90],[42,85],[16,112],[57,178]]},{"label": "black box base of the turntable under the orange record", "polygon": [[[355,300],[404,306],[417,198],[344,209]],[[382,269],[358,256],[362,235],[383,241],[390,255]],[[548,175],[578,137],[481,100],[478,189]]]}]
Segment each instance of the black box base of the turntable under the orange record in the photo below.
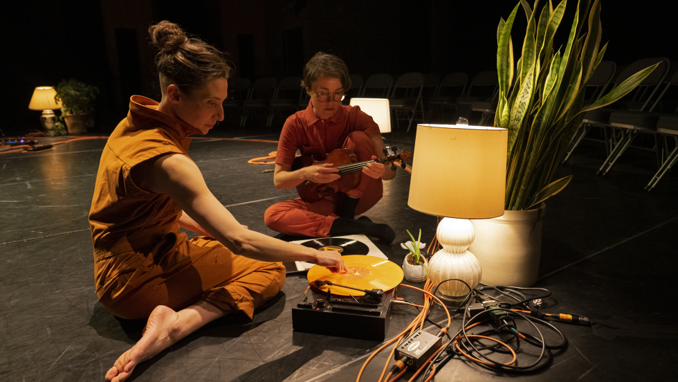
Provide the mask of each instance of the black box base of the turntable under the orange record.
[{"label": "black box base of the turntable under the orange record", "polygon": [[395,289],[381,302],[309,289],[292,306],[292,328],[304,333],[383,341],[391,318]]}]

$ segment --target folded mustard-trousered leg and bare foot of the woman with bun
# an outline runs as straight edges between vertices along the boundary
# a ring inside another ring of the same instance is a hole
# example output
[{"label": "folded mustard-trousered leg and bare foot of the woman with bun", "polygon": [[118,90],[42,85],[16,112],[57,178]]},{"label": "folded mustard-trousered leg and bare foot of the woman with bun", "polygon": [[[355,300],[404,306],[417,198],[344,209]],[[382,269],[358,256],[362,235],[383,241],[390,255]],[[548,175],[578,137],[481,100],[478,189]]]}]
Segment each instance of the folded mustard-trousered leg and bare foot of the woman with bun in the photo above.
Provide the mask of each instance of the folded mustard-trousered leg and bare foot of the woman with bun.
[{"label": "folded mustard-trousered leg and bare foot of the woman with bun", "polygon": [[[251,260],[234,255],[216,240],[196,237],[186,241],[185,234],[180,235],[184,235],[183,241],[159,264],[143,265],[141,272],[134,273],[138,278],[128,281],[140,284],[141,278],[148,278],[145,285],[150,287],[142,287],[138,293],[118,293],[113,304],[116,309],[134,310],[129,301],[145,303],[134,314],[153,304],[155,307],[149,313],[143,337],[118,358],[107,372],[107,380],[126,379],[138,363],[228,313],[241,310],[252,318],[255,307],[273,298],[285,282],[280,263]],[[165,273],[170,270],[176,272]],[[199,294],[192,295],[196,291]],[[118,302],[118,298],[127,298],[128,302]],[[158,300],[154,302],[154,298]]]}]

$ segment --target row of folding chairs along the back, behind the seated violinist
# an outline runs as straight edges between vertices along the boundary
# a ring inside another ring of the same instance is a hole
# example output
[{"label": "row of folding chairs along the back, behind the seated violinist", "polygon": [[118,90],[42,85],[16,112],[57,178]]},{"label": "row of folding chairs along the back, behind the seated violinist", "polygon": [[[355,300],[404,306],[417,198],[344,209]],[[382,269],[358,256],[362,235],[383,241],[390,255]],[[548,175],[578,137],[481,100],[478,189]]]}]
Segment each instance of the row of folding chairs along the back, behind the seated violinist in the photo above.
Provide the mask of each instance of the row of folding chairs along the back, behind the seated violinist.
[{"label": "row of folding chairs along the back, behind the seated violinist", "polygon": [[[478,73],[470,84],[466,73],[449,73],[442,80],[435,73],[418,72],[404,73],[396,80],[388,73],[376,73],[367,80],[356,74],[350,78],[351,89],[345,104],[351,97],[388,98],[396,126],[399,128],[400,121],[406,120],[407,131],[415,119],[450,123],[456,120],[455,116],[466,116],[466,111],[472,110],[482,111],[485,118],[497,95],[496,71]],[[241,111],[241,126],[256,113],[264,113],[266,127],[270,127],[276,117],[289,115],[309,104],[301,81],[296,76],[283,78],[280,82],[272,77],[259,78],[254,83],[235,78],[230,81],[229,97],[223,107],[227,111]]]}]

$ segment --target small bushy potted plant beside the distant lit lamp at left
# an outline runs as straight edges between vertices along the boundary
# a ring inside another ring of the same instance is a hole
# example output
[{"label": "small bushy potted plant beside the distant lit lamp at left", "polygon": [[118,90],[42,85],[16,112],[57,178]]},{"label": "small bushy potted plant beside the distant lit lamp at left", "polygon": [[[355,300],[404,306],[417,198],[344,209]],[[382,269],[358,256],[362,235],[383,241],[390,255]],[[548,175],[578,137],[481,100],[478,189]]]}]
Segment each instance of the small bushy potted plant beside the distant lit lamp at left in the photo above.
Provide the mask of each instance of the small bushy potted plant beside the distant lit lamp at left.
[{"label": "small bushy potted plant beside the distant lit lamp at left", "polygon": [[94,111],[94,100],[99,94],[98,87],[71,78],[59,82],[55,89],[55,99],[61,100],[64,105],[60,119],[66,122],[68,134],[86,133],[87,120]]}]

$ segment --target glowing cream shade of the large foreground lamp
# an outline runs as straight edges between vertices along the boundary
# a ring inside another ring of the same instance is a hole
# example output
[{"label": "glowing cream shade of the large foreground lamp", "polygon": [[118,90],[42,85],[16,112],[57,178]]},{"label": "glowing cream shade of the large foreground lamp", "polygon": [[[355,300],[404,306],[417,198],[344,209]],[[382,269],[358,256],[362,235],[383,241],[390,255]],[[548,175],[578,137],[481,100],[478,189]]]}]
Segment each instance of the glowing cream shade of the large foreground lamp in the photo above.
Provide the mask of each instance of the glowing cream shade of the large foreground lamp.
[{"label": "glowing cream shade of the large foreground lamp", "polygon": [[407,204],[442,217],[504,215],[507,139],[499,127],[417,125]]}]

